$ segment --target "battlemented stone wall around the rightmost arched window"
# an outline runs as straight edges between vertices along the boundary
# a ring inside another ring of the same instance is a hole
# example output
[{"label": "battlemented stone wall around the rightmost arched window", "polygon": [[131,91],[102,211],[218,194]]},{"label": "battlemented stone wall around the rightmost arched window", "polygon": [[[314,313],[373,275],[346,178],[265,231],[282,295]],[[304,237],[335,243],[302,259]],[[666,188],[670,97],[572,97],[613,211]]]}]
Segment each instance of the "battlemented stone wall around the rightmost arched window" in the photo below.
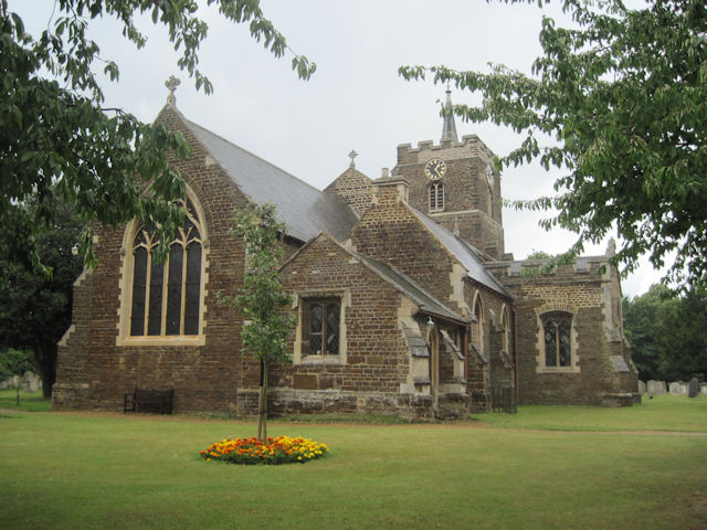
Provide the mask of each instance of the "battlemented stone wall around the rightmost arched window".
[{"label": "battlemented stone wall around the rightmost arched window", "polygon": [[[516,299],[520,403],[623,405],[639,400],[637,372],[616,314],[621,289],[615,269],[603,256],[578,258],[549,274],[542,265],[532,259],[488,264]],[[541,316],[549,311],[573,315],[569,367],[545,367]]]}]

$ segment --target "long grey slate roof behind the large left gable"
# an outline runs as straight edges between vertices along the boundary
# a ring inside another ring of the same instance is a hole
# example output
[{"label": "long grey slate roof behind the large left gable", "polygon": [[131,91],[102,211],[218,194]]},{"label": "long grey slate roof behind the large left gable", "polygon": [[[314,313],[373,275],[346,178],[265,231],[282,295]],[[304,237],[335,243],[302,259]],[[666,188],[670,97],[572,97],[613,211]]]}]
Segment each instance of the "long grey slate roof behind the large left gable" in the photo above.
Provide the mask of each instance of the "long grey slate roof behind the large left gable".
[{"label": "long grey slate roof behind the large left gable", "polygon": [[346,240],[358,220],[338,198],[241,149],[184,118],[189,130],[221,165],[235,186],[256,204],[272,202],[289,226],[288,234],[308,241],[321,231]]}]

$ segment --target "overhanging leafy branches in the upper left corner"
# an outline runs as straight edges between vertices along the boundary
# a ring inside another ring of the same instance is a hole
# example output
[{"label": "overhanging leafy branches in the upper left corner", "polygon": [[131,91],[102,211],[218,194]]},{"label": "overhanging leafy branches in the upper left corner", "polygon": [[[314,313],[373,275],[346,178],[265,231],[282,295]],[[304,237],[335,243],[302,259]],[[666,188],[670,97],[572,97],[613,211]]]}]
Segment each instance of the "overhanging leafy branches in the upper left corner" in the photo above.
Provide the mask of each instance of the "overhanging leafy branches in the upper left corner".
[{"label": "overhanging leafy branches in the upper left corner", "polygon": [[[118,224],[133,218],[151,219],[160,227],[161,254],[169,235],[181,224],[184,183],[167,165],[168,151],[183,157],[186,140],[160,125],[141,124],[122,109],[103,108],[101,76],[115,81],[118,65],[101,56],[87,31],[96,18],[117,20],[123,36],[138,49],[146,43],[136,17],[151,14],[165,25],[178,66],[211,92],[201,73],[199,46],[207,23],[193,0],[56,0],[48,26],[38,36],[0,0],[0,256],[7,263],[41,265],[39,230],[53,223],[48,198],[55,186],[87,229],[81,254],[93,264],[93,223]],[[257,0],[208,0],[234,23],[247,23],[251,35],[275,56],[289,51],[285,38],[264,18]],[[203,8],[203,6],[201,6]],[[293,53],[293,68],[306,80],[314,63]],[[41,208],[20,208],[38,197]],[[0,273],[6,273],[2,271]],[[1,275],[1,274],[0,274]]]}]

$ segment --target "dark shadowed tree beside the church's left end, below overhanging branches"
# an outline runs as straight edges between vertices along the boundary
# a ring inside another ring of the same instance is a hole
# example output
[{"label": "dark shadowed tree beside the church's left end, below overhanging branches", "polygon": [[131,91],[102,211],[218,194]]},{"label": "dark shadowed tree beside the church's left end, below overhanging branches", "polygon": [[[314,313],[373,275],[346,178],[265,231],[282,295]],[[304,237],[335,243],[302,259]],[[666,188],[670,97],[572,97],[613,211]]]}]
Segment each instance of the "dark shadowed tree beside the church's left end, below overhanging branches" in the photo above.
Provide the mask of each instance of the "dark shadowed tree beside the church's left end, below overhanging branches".
[{"label": "dark shadowed tree beside the church's left end, below overhanging branches", "polygon": [[[71,324],[73,284],[83,265],[81,256],[73,253],[81,222],[53,188],[44,199],[51,204],[53,224],[36,235],[35,243],[39,258],[52,274],[48,276],[44,269],[31,265],[10,267],[0,258],[9,271],[0,287],[0,350],[31,350],[42,375],[44,396],[49,398],[55,380],[56,342]],[[18,206],[28,210],[28,218],[41,208],[48,205],[40,204],[38,198]]]}]

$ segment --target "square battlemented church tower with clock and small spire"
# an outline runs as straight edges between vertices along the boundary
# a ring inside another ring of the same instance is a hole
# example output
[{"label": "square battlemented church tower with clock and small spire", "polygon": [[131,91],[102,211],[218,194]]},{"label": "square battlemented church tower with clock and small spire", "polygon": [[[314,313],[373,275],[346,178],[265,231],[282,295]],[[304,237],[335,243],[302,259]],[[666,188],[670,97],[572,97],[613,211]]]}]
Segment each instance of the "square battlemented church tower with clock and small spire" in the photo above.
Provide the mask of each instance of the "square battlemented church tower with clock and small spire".
[{"label": "square battlemented church tower with clock and small spire", "polygon": [[494,153],[476,135],[457,140],[449,88],[444,114],[440,145],[398,146],[392,176],[410,182],[410,204],[488,259],[502,259],[500,176],[493,169]]}]

